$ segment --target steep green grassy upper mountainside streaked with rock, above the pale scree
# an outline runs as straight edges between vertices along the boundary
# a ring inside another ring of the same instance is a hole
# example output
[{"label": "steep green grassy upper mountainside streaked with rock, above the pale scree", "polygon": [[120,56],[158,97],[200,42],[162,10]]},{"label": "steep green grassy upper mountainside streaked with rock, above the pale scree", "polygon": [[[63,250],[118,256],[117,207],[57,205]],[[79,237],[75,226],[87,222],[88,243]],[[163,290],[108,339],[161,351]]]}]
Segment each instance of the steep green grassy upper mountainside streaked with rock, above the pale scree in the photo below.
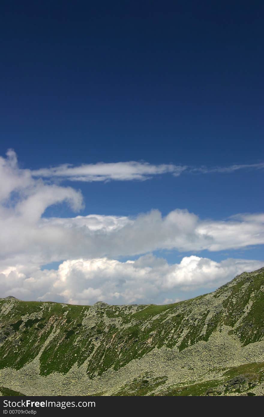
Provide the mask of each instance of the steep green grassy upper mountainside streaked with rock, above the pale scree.
[{"label": "steep green grassy upper mountainside streaked with rock, above the pale scree", "polygon": [[162,306],[76,306],[8,297],[0,299],[0,369],[21,369],[38,355],[43,376],[66,374],[85,362],[94,378],[154,348],[184,351],[224,326],[246,346],[263,340],[263,313],[264,268],[214,293]]}]

